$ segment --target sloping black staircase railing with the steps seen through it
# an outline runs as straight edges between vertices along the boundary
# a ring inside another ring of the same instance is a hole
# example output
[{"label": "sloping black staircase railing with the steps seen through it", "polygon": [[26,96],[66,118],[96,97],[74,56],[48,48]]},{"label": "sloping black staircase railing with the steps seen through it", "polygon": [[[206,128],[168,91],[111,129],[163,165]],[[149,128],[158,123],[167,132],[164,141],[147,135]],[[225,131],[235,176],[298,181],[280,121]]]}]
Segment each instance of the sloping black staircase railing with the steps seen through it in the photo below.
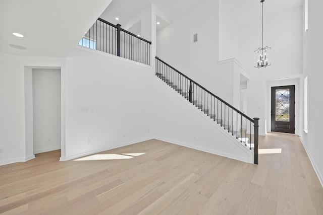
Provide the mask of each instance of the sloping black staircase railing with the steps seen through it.
[{"label": "sloping black staircase railing with the steps seen through it", "polygon": [[258,164],[259,118],[250,118],[165,61],[158,57],[155,59],[156,76],[251,150],[254,153],[254,164]]}]

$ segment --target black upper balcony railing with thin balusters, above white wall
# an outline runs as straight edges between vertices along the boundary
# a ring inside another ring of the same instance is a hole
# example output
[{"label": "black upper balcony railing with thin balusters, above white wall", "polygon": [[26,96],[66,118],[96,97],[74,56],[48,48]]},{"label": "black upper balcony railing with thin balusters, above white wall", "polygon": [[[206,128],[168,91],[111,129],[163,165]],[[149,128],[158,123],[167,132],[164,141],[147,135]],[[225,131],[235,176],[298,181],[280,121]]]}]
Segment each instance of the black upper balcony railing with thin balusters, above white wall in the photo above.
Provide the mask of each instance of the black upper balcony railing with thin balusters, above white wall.
[{"label": "black upper balcony railing with thin balusters, above white wall", "polygon": [[106,52],[150,65],[151,42],[98,18],[78,43],[80,46]]}]

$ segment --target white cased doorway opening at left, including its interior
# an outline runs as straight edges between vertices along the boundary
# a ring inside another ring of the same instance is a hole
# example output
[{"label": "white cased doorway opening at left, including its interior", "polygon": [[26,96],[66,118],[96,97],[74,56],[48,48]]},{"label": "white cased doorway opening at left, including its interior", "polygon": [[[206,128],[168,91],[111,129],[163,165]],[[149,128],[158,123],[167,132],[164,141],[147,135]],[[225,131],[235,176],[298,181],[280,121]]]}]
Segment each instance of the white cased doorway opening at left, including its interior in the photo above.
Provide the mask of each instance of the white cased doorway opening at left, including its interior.
[{"label": "white cased doorway opening at left, including its interior", "polygon": [[58,160],[65,156],[61,73],[61,66],[25,66],[26,161],[35,158],[35,154]]}]

